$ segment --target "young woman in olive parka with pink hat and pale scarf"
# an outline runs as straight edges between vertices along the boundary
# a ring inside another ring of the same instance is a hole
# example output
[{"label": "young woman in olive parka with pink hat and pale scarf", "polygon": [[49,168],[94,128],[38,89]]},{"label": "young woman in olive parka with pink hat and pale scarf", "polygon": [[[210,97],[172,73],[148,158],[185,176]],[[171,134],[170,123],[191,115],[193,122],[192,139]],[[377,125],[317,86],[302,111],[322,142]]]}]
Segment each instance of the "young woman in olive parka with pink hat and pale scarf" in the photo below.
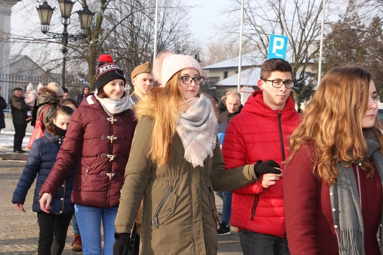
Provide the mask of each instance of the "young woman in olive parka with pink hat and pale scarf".
[{"label": "young woman in olive parka with pink hat and pale scarf", "polygon": [[129,234],[143,197],[140,253],[216,254],[214,190],[228,191],[280,173],[274,161],[225,170],[211,100],[199,93],[199,63],[160,54],[153,74],[161,87],[135,108],[138,118],[121,190],[114,254],[127,254]]}]

